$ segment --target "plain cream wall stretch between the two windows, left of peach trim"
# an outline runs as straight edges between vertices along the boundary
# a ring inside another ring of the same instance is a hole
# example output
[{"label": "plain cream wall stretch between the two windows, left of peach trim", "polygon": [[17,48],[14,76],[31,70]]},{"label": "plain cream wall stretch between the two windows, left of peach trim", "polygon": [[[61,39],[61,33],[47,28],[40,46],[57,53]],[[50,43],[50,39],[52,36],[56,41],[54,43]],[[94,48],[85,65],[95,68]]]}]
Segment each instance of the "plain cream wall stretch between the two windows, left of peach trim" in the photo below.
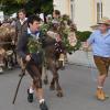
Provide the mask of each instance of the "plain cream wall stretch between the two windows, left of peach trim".
[{"label": "plain cream wall stretch between the two windows, left of peach trim", "polygon": [[75,0],[75,23],[80,31],[90,30],[92,24],[90,0]]}]

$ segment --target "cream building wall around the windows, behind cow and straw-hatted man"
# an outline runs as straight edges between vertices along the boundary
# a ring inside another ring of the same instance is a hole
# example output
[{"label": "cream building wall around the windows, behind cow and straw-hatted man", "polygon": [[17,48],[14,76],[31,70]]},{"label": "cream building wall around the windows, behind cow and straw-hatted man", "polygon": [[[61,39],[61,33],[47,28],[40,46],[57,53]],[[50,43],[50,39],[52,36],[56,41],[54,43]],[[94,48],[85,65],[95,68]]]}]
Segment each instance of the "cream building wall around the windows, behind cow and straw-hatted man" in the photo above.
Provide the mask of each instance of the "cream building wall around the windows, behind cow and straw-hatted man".
[{"label": "cream building wall around the windows, behind cow and straw-hatted man", "polygon": [[[102,1],[102,15],[110,18],[110,0],[74,0],[74,22],[80,31],[91,30],[97,23],[97,1]],[[70,0],[54,0],[54,9],[72,18]]]}]

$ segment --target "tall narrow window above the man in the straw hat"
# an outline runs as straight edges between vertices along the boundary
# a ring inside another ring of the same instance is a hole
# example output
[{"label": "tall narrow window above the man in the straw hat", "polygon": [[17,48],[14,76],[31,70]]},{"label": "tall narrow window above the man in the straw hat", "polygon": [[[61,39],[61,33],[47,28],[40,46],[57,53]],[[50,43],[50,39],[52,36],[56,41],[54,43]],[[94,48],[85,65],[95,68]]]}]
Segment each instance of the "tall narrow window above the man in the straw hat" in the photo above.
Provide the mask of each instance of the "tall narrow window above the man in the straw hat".
[{"label": "tall narrow window above the man in the straw hat", "polygon": [[97,2],[97,22],[102,18],[102,2]]}]

